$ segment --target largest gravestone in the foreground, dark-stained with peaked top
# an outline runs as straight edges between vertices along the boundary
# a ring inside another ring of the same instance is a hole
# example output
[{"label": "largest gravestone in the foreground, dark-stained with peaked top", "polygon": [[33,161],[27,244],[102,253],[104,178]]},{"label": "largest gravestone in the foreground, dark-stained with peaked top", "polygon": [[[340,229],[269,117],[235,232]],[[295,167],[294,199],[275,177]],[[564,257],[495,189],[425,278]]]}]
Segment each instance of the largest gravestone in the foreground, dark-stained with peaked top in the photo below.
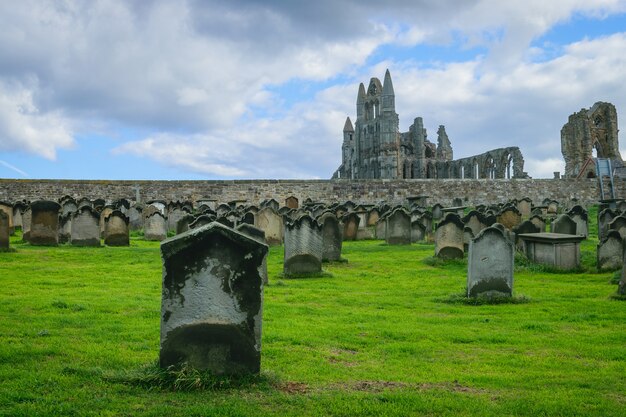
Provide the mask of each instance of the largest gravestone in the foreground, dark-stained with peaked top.
[{"label": "largest gravestone in the foreground, dark-stained with peaked top", "polygon": [[161,367],[259,372],[267,251],[217,222],[161,243]]}]

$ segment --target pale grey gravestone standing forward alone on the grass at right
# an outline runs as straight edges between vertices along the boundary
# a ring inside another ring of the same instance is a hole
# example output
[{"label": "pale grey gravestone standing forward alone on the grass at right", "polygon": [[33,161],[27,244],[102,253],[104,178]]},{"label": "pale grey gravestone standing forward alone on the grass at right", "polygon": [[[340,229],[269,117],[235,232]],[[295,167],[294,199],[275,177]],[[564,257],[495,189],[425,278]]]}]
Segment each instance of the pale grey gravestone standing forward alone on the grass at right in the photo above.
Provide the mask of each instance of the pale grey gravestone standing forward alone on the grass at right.
[{"label": "pale grey gravestone standing forward alone on the grass at right", "polygon": [[484,229],[470,242],[467,264],[467,296],[513,294],[514,250],[497,227]]}]

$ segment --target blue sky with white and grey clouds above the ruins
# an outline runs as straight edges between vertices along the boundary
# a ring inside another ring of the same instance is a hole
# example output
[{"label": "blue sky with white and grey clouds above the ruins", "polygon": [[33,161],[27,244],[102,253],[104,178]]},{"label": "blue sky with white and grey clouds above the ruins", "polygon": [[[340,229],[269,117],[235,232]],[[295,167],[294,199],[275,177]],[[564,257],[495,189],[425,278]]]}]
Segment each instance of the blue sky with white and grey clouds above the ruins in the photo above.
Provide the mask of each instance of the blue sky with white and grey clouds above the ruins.
[{"label": "blue sky with white and grey clouds above the ruins", "polygon": [[533,178],[570,114],[626,123],[626,0],[20,0],[0,27],[0,178],[330,178],[386,69],[400,131]]}]

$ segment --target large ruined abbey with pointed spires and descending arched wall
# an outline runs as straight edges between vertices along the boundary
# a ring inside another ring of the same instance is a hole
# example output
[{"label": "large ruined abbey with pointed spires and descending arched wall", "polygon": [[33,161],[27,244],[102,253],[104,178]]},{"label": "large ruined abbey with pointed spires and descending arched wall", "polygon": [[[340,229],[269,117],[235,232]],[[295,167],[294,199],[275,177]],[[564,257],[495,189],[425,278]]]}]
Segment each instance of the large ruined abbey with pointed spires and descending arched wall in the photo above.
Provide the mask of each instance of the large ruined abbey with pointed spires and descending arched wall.
[{"label": "large ruined abbey with pointed spires and descending arched wall", "polygon": [[408,132],[400,132],[395,93],[389,70],[381,84],[372,78],[367,89],[359,85],[356,122],[343,128],[342,163],[333,179],[528,178],[518,147],[492,149],[454,160],[443,125],[437,144],[427,139],[421,117]]}]

